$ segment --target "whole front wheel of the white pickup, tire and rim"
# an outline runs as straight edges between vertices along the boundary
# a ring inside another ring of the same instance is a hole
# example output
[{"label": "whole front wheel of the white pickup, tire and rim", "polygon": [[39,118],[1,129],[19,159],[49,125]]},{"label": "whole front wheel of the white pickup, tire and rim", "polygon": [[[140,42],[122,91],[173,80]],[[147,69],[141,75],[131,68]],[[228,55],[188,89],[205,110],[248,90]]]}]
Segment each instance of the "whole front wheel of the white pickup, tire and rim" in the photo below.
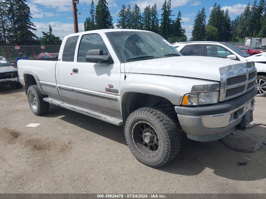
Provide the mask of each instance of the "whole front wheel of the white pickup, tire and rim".
[{"label": "whole front wheel of the white pickup, tire and rim", "polygon": [[150,167],[161,167],[176,157],[181,135],[167,113],[155,108],[139,108],[125,124],[127,145],[137,160]]}]

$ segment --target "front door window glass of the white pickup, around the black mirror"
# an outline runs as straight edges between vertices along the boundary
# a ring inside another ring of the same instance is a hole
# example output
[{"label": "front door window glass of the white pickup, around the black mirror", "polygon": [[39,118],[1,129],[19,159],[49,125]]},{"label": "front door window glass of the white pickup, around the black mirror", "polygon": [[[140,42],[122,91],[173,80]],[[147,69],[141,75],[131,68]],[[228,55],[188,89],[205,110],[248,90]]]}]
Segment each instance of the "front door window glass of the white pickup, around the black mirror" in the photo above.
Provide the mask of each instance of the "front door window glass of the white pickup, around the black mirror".
[{"label": "front door window glass of the white pickup, around the black mirror", "polygon": [[77,61],[85,62],[87,51],[93,49],[102,49],[103,55],[108,55],[105,42],[99,34],[83,35],[78,48]]}]

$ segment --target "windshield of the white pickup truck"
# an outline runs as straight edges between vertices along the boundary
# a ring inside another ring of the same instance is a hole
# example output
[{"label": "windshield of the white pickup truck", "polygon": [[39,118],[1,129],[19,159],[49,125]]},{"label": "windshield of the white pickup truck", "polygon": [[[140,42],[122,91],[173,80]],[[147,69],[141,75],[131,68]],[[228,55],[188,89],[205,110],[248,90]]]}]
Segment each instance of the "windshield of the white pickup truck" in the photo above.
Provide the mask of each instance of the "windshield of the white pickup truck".
[{"label": "windshield of the white pickup truck", "polygon": [[119,31],[107,32],[121,63],[182,56],[175,47],[156,33]]}]

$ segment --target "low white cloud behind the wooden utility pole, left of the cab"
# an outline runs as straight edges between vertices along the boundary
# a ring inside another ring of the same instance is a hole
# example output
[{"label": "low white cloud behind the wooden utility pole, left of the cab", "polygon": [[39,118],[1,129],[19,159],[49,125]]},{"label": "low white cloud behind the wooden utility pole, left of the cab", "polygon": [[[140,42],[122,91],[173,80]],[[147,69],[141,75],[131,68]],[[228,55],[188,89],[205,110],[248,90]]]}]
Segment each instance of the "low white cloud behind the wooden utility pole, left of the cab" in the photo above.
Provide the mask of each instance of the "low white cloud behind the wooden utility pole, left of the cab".
[{"label": "low white cloud behind the wooden utility pole, left of the cab", "polygon": [[[64,37],[66,35],[74,33],[73,23],[61,23],[59,21],[51,21],[48,23],[33,22],[33,24],[36,25],[35,28],[37,29],[37,31],[35,31],[34,33],[38,37],[42,36],[42,31],[48,32],[48,25],[49,24],[52,26],[53,34],[55,36]],[[84,24],[83,23],[78,24],[78,30],[79,30],[79,32],[84,31]],[[61,38],[61,39],[63,39],[63,38]]]}]

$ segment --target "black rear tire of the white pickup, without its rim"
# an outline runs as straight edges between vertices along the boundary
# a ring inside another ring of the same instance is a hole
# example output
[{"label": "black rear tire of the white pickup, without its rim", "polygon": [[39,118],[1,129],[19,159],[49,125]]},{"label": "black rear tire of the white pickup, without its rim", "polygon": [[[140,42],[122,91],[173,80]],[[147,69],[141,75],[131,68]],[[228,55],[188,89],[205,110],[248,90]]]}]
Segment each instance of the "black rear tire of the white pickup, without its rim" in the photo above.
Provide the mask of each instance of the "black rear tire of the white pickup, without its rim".
[{"label": "black rear tire of the white pickup, without its rim", "polygon": [[[30,102],[29,95],[31,92],[35,95],[35,98],[36,98],[36,109],[32,107],[31,102]],[[29,103],[32,113],[34,113],[35,115],[42,115],[49,111],[49,102],[43,101],[44,97],[47,97],[47,96],[41,93],[37,85],[29,86],[28,91],[27,91],[28,103]]]}]

